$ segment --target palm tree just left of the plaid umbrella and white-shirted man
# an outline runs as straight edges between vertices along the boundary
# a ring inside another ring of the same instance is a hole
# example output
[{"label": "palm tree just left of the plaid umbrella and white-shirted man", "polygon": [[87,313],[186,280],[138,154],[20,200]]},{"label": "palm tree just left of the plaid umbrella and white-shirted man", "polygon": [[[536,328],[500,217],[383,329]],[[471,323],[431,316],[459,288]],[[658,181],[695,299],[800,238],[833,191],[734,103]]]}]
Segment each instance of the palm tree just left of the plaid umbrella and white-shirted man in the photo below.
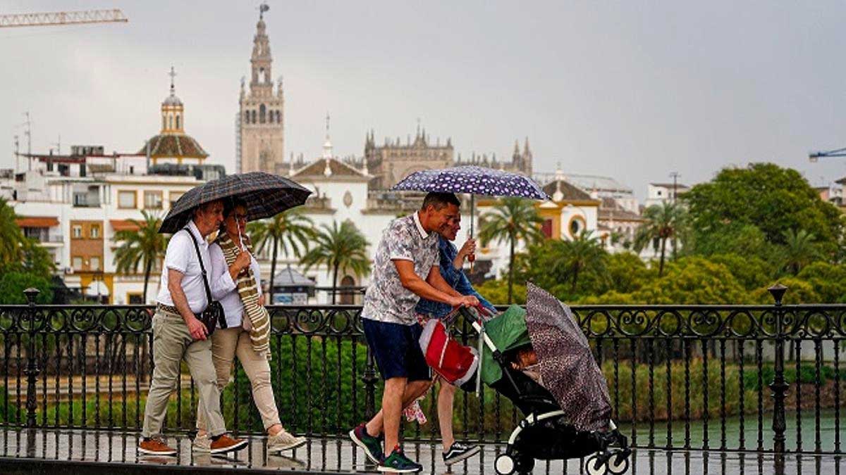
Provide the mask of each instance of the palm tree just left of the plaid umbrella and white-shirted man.
[{"label": "palm tree just left of the plaid umbrella and white-shirted man", "polygon": [[118,272],[138,272],[138,265],[144,266],[144,294],[147,301],[147,286],[153,264],[160,262],[168,250],[168,238],[158,232],[162,218],[155,213],[141,210],[142,220],[129,220],[137,229],[124,229],[114,234],[114,242],[121,243],[114,251],[114,264]]}]

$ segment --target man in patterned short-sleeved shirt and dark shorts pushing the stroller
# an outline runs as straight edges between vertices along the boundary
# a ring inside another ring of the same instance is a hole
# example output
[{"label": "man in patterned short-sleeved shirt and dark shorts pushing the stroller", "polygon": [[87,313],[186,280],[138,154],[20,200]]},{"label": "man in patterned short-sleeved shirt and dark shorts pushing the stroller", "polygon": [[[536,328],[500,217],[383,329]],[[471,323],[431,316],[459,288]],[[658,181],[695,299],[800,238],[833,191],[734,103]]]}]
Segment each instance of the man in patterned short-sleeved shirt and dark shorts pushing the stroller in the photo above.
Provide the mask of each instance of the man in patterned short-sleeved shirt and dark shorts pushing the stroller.
[{"label": "man in patterned short-sleeved shirt and dark shorts pushing the stroller", "polygon": [[450,287],[438,269],[437,231],[459,219],[459,205],[454,194],[427,194],[419,211],[391,223],[376,248],[361,319],[367,345],[385,379],[382,411],[351,430],[349,436],[378,464],[380,472],[419,472],[423,468],[405,456],[398,444],[403,408],[431,385],[429,367],[420,351],[415,305],[420,298],[453,307],[479,304],[477,298]]}]

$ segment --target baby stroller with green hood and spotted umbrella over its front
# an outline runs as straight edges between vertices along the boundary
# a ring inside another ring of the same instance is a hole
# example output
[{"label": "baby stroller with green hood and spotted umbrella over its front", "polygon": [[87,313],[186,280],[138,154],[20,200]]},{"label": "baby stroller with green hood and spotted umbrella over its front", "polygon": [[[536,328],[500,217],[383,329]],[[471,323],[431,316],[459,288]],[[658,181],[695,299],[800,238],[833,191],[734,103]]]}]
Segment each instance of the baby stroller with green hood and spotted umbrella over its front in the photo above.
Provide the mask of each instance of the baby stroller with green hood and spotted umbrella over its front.
[{"label": "baby stroller with green hood and spotted umbrella over its front", "polygon": [[[629,442],[610,419],[605,378],[573,314],[531,283],[526,308],[513,306],[484,323],[462,309],[485,343],[480,341],[477,375],[525,415],[508,438],[505,453],[494,461],[497,473],[531,472],[535,459],[585,456],[590,475],[626,472]],[[530,377],[533,373],[512,368],[515,353],[527,347],[536,352],[540,382]]]}]

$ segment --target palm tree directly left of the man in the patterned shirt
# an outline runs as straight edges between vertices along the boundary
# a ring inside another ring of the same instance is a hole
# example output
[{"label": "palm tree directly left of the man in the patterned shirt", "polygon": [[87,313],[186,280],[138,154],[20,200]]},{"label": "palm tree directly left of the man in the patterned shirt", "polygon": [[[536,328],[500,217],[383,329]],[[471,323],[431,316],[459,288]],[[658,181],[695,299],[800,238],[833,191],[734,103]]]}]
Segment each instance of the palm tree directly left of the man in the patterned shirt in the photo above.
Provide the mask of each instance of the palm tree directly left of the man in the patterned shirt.
[{"label": "palm tree directly left of the man in the patterned shirt", "polygon": [[352,221],[332,221],[324,224],[315,235],[315,245],[303,256],[302,263],[309,270],[315,265],[325,264],[327,273],[332,272],[332,304],[335,303],[338,287],[338,271],[351,270],[355,276],[365,276],[371,270],[371,259],[367,255],[367,239]]}]

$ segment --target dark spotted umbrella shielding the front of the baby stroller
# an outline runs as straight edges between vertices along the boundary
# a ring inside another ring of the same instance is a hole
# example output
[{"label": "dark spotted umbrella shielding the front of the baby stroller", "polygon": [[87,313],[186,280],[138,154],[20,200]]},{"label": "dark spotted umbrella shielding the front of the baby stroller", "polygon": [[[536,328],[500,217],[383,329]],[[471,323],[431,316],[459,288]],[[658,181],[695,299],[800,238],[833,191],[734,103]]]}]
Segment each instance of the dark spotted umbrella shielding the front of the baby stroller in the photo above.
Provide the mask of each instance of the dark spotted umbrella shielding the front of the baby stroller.
[{"label": "dark spotted umbrella shielding the front of the baby stroller", "polygon": [[543,385],[576,429],[606,429],[611,418],[608,386],[573,312],[531,282],[526,290],[526,329]]}]

